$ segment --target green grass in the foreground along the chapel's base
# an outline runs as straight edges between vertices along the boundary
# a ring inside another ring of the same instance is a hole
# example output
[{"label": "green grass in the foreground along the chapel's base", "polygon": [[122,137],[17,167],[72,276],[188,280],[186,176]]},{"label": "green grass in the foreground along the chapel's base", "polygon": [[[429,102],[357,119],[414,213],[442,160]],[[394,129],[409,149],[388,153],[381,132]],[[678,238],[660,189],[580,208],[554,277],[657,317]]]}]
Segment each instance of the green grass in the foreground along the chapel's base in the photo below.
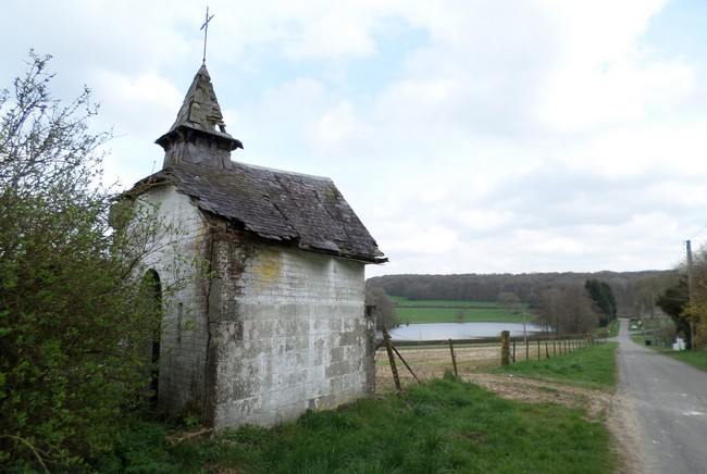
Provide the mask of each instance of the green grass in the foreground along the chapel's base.
[{"label": "green grass in the foreground along the chapel's base", "polygon": [[[448,376],[410,386],[399,396],[311,411],[270,429],[243,426],[197,444],[170,447],[154,440],[160,425],[134,425],[134,445],[99,467],[187,473],[612,472],[618,459],[611,436],[585,415],[580,409],[506,400]],[[141,431],[149,436],[139,442]]]}]

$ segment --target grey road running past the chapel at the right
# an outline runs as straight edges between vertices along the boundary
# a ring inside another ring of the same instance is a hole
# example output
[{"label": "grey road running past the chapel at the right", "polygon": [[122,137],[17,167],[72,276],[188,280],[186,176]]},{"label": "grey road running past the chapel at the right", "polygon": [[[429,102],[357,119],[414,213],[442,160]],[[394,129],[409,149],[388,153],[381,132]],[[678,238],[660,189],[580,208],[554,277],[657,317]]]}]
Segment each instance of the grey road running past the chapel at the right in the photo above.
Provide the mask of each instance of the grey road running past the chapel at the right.
[{"label": "grey road running past the chapel at the right", "polygon": [[635,473],[707,473],[707,373],[618,337],[615,434]]}]

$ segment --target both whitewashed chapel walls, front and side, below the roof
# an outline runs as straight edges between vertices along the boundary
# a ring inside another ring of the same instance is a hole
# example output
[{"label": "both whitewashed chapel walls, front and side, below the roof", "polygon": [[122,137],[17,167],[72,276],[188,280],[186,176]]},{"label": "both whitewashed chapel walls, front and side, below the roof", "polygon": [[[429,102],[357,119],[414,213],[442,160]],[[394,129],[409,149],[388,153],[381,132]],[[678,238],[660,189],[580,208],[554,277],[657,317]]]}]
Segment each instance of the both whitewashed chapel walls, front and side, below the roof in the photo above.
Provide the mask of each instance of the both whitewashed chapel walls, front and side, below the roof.
[{"label": "both whitewashed chapel walls, front and side, below the roof", "polygon": [[[211,227],[171,185],[141,199],[170,227],[144,267],[164,290],[160,411],[270,426],[372,394],[363,263]],[[190,257],[215,276],[195,274]]]}]

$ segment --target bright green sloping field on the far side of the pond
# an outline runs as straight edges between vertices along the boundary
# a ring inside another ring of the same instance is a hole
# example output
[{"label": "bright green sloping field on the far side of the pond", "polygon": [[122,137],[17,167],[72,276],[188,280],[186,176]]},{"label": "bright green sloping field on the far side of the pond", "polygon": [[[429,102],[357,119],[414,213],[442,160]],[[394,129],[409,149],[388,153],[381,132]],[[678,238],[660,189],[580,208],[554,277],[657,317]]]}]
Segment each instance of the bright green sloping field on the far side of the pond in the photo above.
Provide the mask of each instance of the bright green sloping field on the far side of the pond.
[{"label": "bright green sloping field on the far side of the pond", "polygon": [[[420,300],[411,301],[405,297],[392,296],[396,313],[402,324],[418,323],[522,323],[520,312],[509,311],[493,301],[451,301]],[[526,314],[526,322],[532,323],[532,314]]]}]

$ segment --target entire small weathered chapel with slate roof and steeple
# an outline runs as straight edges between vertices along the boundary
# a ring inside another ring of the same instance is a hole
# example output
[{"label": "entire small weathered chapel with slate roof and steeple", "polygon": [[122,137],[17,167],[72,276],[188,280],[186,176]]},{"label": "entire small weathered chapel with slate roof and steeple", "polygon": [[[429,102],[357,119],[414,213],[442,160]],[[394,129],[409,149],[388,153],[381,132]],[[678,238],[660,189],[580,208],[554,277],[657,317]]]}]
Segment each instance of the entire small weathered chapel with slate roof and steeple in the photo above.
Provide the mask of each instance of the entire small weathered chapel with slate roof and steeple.
[{"label": "entire small weathered chapel with slate roof and steeple", "polygon": [[382,263],[363,224],[325,177],[233,162],[203,65],[170,130],[161,171],[128,191],[165,227],[145,270],[172,285],[181,261],[207,263],[161,299],[158,409],[216,429],[273,425],[374,388],[375,322],[364,265]]}]

